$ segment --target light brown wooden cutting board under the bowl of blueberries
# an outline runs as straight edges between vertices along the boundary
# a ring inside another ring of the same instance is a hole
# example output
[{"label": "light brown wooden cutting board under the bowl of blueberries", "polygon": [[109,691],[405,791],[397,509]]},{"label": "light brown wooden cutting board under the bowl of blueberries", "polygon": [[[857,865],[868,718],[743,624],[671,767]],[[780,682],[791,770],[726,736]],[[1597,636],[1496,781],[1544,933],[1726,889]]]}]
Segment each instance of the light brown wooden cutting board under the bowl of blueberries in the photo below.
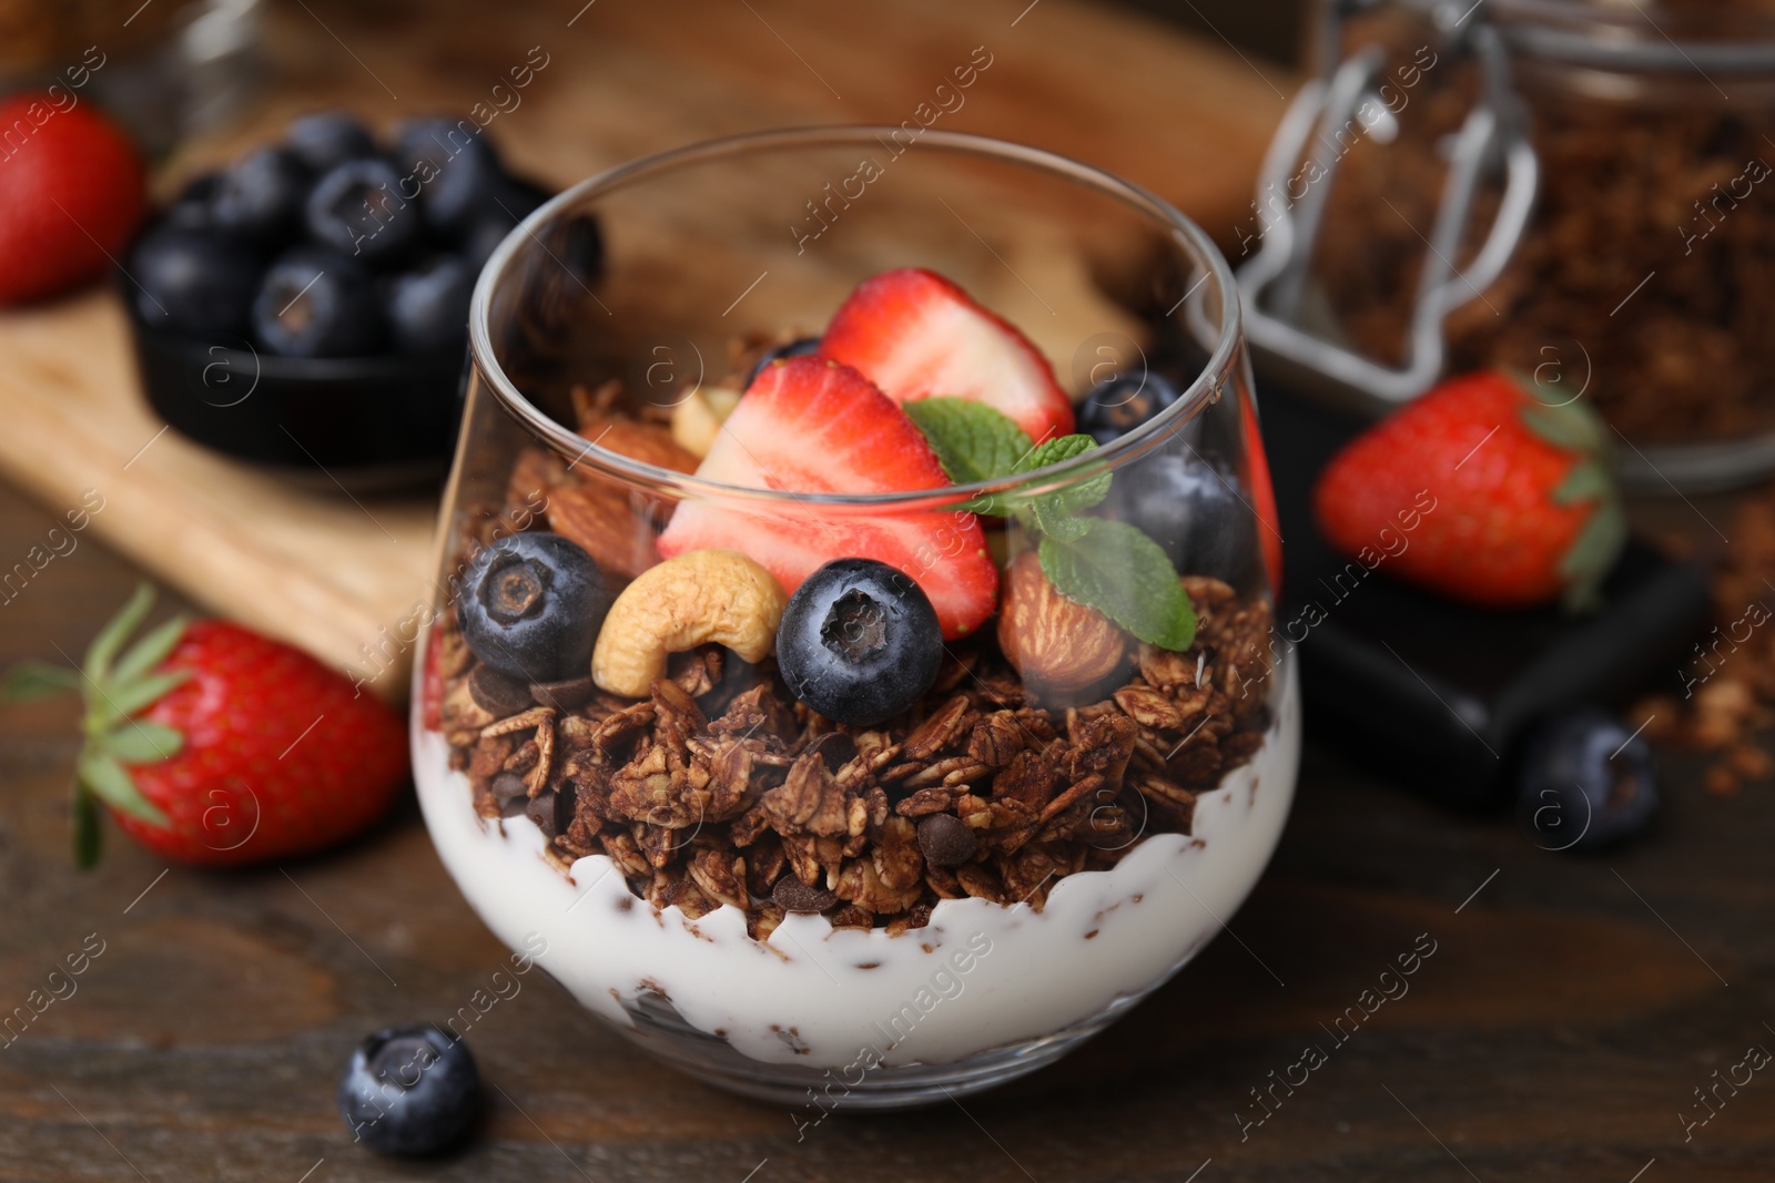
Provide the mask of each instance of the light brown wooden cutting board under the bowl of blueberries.
[{"label": "light brown wooden cutting board under the bowl of blueberries", "polygon": [[[715,135],[898,124],[983,48],[989,73],[941,126],[1100,165],[1230,239],[1289,85],[1219,46],[1076,0],[580,4],[504,4],[493,20],[469,0],[273,2],[263,101],[181,149],[158,188],[273,138],[304,110],[346,106],[385,128],[479,101],[506,108],[488,131],[511,165],[564,186]],[[527,62],[545,64],[524,90],[493,90]],[[9,481],[55,513],[99,504],[91,536],[156,578],[385,697],[405,693],[408,654],[383,630],[426,596],[433,500],[295,490],[165,431],[105,291],[0,314],[0,358]]]}]

